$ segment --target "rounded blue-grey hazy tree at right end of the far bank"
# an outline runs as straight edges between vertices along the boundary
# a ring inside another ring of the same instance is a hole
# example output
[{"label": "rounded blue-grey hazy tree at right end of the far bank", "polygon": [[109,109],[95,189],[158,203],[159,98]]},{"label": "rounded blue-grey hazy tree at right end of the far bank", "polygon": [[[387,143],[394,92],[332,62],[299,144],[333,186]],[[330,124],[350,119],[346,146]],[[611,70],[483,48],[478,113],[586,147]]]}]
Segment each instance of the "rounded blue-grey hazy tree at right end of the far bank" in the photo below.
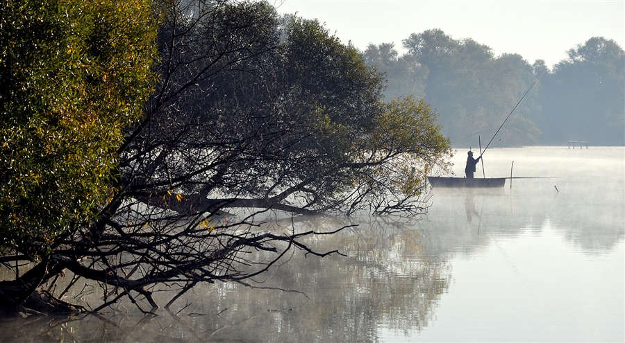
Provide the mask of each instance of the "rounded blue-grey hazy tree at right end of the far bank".
[{"label": "rounded blue-grey hazy tree at right end of the far bank", "polygon": [[592,37],[570,49],[540,92],[542,143],[625,144],[625,53],[613,40]]}]

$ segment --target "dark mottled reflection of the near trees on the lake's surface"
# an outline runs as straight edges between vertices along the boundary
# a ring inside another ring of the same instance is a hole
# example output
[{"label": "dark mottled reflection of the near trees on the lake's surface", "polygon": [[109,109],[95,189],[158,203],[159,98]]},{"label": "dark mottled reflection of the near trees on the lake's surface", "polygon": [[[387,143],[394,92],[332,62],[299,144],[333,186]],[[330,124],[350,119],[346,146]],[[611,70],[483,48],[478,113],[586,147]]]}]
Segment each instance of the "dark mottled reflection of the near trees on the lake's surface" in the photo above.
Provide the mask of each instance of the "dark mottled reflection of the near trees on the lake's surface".
[{"label": "dark mottled reflection of the near trees on the lake's surface", "polygon": [[[338,236],[308,242],[339,249],[347,258],[294,252],[289,263],[256,280],[255,288],[199,285],[168,312],[158,311],[159,316],[143,317],[122,303],[116,311],[78,321],[32,323],[36,328],[28,331],[51,341],[83,342],[376,342],[380,329],[399,335],[421,331],[449,288],[446,261],[426,255],[424,235],[413,222],[372,219],[358,224]],[[337,223],[320,218],[294,226],[319,230],[326,225]],[[6,322],[0,325],[3,331],[16,330]]]}]

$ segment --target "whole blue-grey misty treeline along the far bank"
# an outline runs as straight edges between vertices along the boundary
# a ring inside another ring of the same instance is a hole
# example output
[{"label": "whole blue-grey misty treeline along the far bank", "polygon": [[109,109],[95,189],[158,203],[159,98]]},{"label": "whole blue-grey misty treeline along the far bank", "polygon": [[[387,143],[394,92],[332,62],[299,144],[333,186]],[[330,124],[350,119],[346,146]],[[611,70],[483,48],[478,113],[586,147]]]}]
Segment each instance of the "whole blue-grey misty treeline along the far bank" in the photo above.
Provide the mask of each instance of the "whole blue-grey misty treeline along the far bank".
[{"label": "whole blue-grey misty treeline along the far bank", "polygon": [[612,39],[592,37],[548,69],[521,55],[494,56],[473,39],[452,39],[440,29],[394,44],[369,44],[365,62],[385,73],[388,98],[414,94],[437,109],[443,134],[456,146],[490,140],[512,108],[542,75],[510,116],[494,146],[625,145],[625,53]]}]

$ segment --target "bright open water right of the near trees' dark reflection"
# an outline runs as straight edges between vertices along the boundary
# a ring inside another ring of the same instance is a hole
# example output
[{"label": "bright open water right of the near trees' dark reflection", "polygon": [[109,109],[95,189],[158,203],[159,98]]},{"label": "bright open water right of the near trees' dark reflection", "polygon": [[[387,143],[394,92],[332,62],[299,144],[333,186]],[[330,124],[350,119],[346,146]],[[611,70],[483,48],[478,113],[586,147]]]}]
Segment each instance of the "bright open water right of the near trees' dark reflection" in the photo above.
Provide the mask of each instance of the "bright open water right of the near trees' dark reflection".
[{"label": "bright open water right of the near trees' dark reflection", "polygon": [[[426,230],[453,282],[433,327],[412,339],[623,341],[624,156],[622,147],[489,150],[486,177],[510,176],[514,160],[512,176],[551,178],[433,190]],[[441,220],[454,208],[465,222]]]}]

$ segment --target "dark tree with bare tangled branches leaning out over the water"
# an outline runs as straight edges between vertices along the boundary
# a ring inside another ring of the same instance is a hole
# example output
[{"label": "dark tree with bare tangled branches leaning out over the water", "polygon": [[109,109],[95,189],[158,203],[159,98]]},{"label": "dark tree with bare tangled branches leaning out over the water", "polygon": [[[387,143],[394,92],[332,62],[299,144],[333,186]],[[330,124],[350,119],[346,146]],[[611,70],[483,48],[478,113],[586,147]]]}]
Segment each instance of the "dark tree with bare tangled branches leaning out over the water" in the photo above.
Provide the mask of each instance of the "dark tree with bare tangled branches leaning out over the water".
[{"label": "dark tree with bare tangled branches leaning out over the water", "polygon": [[99,286],[91,310],[122,298],[156,308],[163,289],[174,291],[169,306],[199,282],[249,284],[290,249],[331,253],[302,240],[328,233],[270,225],[280,213],[423,211],[425,172],[447,168],[449,141],[423,101],[384,103],[358,51],[265,2],[154,8],[158,85],[124,141],[108,142],[119,160],[102,173],[108,197],[38,256],[4,245],[15,280],[1,281],[1,304],[19,306],[45,283],[65,294],[56,281],[67,270],[70,287]]}]

